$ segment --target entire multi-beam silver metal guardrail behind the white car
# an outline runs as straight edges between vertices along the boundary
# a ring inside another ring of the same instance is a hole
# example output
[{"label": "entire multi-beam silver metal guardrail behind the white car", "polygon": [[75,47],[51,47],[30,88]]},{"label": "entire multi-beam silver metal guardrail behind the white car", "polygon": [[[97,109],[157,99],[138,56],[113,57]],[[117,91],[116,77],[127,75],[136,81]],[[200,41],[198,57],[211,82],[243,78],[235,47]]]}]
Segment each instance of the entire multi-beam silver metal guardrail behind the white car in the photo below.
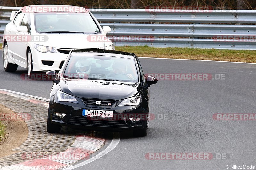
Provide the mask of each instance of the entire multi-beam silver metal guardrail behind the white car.
[{"label": "entire multi-beam silver metal guardrail behind the white car", "polygon": [[[0,7],[0,34],[9,22],[11,11],[19,9],[20,7]],[[90,11],[101,26],[111,27],[112,31],[108,36],[114,41],[115,46],[256,49],[256,25],[252,25],[256,24],[256,10],[154,12],[148,9],[90,9]]]}]

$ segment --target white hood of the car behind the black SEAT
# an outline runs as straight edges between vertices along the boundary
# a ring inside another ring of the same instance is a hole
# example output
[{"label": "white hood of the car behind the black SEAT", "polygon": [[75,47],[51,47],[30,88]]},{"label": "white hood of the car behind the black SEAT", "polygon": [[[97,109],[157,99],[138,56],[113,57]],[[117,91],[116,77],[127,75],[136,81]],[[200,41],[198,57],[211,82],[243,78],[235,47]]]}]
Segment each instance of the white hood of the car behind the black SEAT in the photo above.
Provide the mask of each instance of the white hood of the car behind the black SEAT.
[{"label": "white hood of the car behind the black SEAT", "polygon": [[[92,41],[91,36],[104,36],[102,34],[39,34],[43,36],[44,41],[36,42],[36,44],[50,46],[55,48],[68,49],[84,49],[84,48],[104,48],[104,41],[98,39]],[[103,39],[104,40],[104,39]],[[105,46],[110,46],[113,43],[108,40]]]}]

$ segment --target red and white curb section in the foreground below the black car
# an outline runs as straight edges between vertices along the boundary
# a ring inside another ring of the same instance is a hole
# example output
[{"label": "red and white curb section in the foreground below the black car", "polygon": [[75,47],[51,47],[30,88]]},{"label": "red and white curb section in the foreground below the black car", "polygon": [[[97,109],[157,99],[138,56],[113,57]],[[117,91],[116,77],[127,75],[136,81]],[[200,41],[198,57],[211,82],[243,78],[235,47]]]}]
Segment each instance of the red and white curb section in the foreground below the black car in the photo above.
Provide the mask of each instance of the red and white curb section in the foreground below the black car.
[{"label": "red and white curb section in the foreground below the black car", "polygon": [[[99,150],[105,143],[104,139],[92,138],[86,135],[77,135],[73,145],[64,152],[60,152],[42,159],[33,159],[20,164],[6,166],[5,169],[64,169],[82,159],[90,159],[90,155]],[[24,155],[26,157],[26,155]],[[24,158],[26,159],[26,158]]]}]

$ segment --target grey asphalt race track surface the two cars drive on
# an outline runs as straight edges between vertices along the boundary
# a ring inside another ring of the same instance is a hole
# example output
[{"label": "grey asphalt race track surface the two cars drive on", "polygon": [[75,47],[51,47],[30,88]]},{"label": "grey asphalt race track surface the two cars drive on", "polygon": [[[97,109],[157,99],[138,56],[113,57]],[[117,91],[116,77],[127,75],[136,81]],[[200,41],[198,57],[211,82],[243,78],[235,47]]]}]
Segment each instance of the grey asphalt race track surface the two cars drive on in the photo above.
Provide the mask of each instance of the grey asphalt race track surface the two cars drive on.
[{"label": "grey asphalt race track surface the two cars drive on", "polygon": [[[2,51],[0,51],[2,56]],[[120,143],[102,159],[77,169],[226,169],[256,166],[256,120],[214,120],[214,113],[256,112],[256,65],[140,58],[144,73],[225,74],[225,80],[159,80],[150,87],[146,137],[120,133]],[[0,88],[49,98],[52,81],[21,79],[26,69],[6,73]],[[160,120],[167,114],[167,120]],[[147,153],[221,153],[223,159],[148,160]]]}]

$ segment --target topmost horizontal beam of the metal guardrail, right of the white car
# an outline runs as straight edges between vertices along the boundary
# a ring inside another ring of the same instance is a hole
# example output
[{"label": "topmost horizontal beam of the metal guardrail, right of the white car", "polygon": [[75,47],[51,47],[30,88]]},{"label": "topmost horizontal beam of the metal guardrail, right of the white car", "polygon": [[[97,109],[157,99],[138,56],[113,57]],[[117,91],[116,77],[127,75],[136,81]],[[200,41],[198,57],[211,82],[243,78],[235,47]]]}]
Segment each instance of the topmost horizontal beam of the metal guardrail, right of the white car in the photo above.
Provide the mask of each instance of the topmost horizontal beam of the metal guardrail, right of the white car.
[{"label": "topmost horizontal beam of the metal guardrail, right of the white car", "polygon": [[148,9],[102,9],[92,10],[92,13],[98,21],[104,22],[256,23],[256,10],[155,11],[150,12]]}]

